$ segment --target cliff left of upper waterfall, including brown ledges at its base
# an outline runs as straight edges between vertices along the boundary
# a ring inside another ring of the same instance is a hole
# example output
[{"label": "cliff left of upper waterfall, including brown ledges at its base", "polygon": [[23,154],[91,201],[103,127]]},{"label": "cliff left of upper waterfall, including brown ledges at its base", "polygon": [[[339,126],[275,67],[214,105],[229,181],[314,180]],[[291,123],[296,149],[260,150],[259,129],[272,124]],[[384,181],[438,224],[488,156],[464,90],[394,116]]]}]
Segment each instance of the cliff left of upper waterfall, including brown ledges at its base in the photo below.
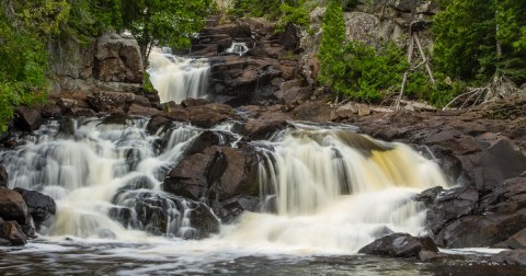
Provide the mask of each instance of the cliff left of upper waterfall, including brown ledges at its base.
[{"label": "cliff left of upper waterfall, including brown ledges at its base", "polygon": [[133,36],[106,33],[89,43],[75,38],[56,41],[49,55],[49,99],[60,108],[56,113],[122,113],[135,106],[135,113],[148,114],[148,108],[159,105],[156,94],[142,91],[144,64]]}]

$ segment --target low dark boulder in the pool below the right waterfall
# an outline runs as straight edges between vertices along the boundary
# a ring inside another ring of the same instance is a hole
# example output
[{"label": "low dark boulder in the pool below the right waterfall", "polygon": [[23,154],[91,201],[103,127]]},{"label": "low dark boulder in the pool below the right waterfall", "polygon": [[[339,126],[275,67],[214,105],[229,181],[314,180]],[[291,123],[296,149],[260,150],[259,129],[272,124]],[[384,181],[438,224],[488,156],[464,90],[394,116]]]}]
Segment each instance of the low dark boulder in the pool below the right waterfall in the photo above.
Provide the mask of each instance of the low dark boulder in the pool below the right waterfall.
[{"label": "low dark boulder in the pool below the right waterfall", "polygon": [[365,245],[358,251],[358,253],[392,257],[410,257],[418,256],[423,250],[438,252],[435,243],[428,237],[415,238],[408,233],[393,233]]}]

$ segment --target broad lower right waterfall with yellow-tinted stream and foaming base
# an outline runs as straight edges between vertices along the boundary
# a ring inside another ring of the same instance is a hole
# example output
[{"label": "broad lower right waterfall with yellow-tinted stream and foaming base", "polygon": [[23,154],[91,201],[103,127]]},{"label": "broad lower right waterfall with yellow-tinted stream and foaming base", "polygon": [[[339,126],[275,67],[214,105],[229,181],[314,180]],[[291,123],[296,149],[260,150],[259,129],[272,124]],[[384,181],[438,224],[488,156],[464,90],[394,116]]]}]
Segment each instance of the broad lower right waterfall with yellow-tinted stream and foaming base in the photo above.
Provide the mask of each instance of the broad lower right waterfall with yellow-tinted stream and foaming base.
[{"label": "broad lower right waterfall with yellow-tinted stream and foaming base", "polygon": [[425,212],[412,197],[447,185],[410,147],[348,130],[298,129],[262,148],[263,209],[275,214],[247,212],[224,231],[239,246],[345,253],[390,232],[416,235]]}]

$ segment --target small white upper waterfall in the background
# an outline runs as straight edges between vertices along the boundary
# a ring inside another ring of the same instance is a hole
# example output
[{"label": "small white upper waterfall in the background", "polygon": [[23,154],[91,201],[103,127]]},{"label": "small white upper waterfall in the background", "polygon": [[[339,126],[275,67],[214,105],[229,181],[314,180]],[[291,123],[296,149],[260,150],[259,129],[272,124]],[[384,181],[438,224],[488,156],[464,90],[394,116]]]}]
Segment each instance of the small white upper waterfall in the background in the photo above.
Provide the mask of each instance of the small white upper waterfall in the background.
[{"label": "small white upper waterfall in the background", "polygon": [[148,73],[161,103],[180,103],[188,97],[204,97],[210,66],[207,59],[183,58],[151,51]]}]

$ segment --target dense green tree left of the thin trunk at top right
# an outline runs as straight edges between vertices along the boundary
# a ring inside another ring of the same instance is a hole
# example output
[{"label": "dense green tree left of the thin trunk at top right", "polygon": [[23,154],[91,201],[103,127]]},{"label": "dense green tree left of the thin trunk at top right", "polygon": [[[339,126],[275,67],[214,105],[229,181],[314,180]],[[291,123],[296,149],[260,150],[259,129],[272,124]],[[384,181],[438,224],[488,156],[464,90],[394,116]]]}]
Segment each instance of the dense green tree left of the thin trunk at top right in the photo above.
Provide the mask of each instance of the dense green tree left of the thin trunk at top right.
[{"label": "dense green tree left of the thin trunk at top right", "polygon": [[498,59],[494,0],[449,0],[433,20],[434,61],[461,80],[488,79]]}]

